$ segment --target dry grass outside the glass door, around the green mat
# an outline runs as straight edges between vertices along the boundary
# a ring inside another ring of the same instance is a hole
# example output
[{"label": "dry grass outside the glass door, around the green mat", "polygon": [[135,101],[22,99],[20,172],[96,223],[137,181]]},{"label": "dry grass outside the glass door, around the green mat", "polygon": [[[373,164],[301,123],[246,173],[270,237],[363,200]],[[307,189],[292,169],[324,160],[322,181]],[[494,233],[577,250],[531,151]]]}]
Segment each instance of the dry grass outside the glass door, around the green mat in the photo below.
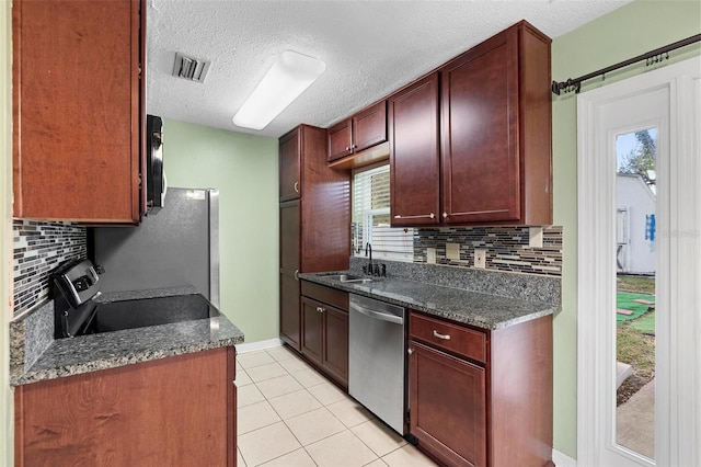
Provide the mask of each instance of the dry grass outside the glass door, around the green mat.
[{"label": "dry grass outside the glass door, around the green mat", "polygon": [[[621,297],[628,297],[629,294],[624,293],[654,295],[655,278],[619,276],[618,291]],[[624,299],[622,298],[619,303],[623,303]],[[619,362],[628,363],[633,367],[633,375],[618,389],[617,402],[620,406],[655,377],[654,307],[645,312],[634,314],[633,319],[618,320],[616,352]]]}]

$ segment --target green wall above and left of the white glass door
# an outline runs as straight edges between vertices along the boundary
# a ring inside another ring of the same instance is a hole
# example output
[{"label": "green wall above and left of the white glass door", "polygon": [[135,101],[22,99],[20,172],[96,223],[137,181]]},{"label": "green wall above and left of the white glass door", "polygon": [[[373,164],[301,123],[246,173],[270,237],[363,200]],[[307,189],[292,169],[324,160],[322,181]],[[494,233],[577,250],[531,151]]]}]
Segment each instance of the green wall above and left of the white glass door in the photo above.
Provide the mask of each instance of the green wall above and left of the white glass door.
[{"label": "green wall above and left of the white glass door", "polygon": [[[576,78],[700,32],[701,2],[636,0],[555,38],[552,77]],[[698,44],[671,53],[670,61],[694,55]],[[588,81],[582,91],[644,71],[643,61],[607,75],[604,82]],[[562,311],[554,319],[554,447],[573,458],[577,452],[576,128],[575,95],[553,96],[554,224],[564,228]]]}]

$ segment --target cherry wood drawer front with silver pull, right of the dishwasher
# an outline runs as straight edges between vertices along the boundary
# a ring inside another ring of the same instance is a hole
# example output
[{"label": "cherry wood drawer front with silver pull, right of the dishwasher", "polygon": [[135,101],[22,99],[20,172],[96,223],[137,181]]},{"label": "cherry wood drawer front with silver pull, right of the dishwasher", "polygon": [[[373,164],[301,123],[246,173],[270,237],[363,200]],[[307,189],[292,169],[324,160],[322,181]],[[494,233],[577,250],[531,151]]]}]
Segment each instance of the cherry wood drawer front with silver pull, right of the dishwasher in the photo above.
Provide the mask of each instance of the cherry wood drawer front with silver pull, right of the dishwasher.
[{"label": "cherry wood drawer front with silver pull, right of the dishwasher", "polygon": [[413,339],[486,363],[486,334],[439,319],[412,312],[409,332]]}]

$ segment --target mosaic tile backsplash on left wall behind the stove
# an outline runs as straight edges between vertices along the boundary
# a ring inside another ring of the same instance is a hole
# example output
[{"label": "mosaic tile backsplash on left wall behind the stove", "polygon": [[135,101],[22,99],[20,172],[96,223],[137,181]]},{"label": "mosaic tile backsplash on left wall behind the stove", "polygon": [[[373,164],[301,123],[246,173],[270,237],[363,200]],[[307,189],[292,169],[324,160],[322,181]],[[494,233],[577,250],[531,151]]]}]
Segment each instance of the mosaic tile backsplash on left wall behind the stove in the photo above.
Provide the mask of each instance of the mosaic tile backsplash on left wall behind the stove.
[{"label": "mosaic tile backsplash on left wall behind the stove", "polygon": [[15,219],[12,223],[14,257],[14,316],[48,298],[49,274],[66,260],[87,258],[85,228],[68,223]]}]

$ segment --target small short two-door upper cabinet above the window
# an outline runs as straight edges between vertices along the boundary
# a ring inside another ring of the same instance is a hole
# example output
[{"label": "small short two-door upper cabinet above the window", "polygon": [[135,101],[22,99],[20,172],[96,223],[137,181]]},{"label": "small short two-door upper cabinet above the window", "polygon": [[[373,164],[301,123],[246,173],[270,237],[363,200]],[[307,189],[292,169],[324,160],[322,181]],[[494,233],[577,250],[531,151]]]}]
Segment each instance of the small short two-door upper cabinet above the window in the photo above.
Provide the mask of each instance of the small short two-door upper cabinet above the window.
[{"label": "small short two-door upper cabinet above the window", "polygon": [[329,162],[387,141],[387,101],[329,128]]}]

